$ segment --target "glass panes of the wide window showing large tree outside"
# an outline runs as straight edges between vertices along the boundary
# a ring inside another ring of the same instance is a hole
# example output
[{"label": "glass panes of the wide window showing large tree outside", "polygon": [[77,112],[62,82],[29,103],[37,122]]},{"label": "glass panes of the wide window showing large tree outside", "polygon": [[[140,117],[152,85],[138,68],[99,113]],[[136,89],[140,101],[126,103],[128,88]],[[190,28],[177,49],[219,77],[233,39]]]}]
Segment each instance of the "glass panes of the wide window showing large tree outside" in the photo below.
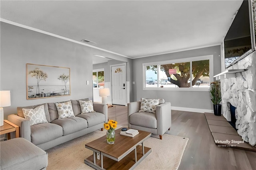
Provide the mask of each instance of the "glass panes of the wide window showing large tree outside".
[{"label": "glass panes of the wide window showing large tree outside", "polygon": [[[146,66],[146,78],[149,72],[155,72],[156,77],[158,77],[158,86],[154,87],[209,88],[210,86],[209,59]],[[192,82],[190,82],[191,79]],[[146,87],[153,86],[146,84]]]}]

